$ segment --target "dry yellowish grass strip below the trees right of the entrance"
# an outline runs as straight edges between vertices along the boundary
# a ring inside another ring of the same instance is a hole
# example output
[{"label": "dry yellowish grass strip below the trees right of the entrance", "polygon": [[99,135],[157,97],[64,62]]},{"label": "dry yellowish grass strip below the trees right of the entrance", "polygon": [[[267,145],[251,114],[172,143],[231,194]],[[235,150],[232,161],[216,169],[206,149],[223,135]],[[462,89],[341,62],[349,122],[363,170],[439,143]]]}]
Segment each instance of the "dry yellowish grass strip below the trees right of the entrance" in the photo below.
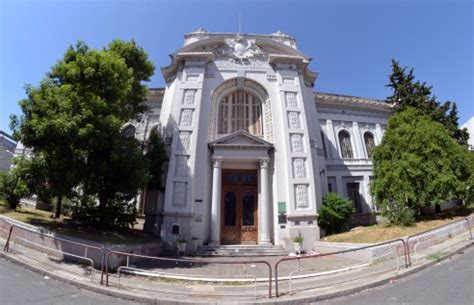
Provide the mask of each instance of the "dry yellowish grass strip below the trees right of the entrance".
[{"label": "dry yellowish grass strip below the trees right of the entrance", "polygon": [[432,219],[418,221],[410,227],[399,227],[390,224],[378,224],[369,227],[356,227],[350,232],[334,234],[323,238],[323,241],[347,242],[347,243],[377,243],[413,235],[441,225],[463,219],[472,212],[467,207],[447,211],[443,214],[434,215]]}]

